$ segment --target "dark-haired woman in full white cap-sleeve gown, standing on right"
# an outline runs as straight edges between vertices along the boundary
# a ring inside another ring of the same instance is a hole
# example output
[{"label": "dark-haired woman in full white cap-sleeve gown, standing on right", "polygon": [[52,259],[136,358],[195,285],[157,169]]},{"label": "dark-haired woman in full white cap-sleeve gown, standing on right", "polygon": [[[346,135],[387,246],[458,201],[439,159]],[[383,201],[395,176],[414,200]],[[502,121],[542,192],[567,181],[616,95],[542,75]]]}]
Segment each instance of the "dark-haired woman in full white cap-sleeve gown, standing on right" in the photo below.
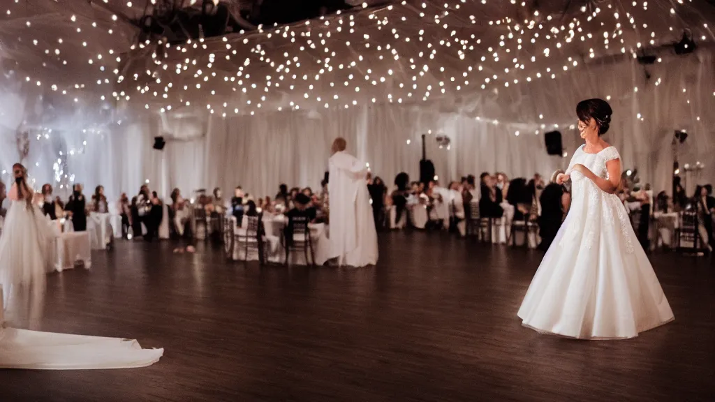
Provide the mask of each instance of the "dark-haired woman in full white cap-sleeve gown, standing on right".
[{"label": "dark-haired woman in full white cap-sleeve gown, standing on right", "polygon": [[559,184],[571,180],[571,209],[534,275],[518,316],[540,333],[579,339],[633,338],[674,320],[653,268],[614,192],[621,157],[601,138],[611,107],[576,107],[586,144]]}]

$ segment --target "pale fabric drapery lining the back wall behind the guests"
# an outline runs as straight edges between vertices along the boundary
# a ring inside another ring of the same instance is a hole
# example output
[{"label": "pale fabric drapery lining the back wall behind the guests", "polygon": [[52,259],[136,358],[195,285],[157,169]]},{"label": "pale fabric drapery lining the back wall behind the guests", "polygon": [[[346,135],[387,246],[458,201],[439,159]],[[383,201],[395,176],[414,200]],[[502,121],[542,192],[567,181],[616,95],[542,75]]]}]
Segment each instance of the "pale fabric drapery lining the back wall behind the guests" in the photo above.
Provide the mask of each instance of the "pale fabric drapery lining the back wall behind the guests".
[{"label": "pale fabric drapery lining the back wall behind the guests", "polygon": [[[401,171],[416,180],[420,136],[429,131],[427,156],[442,185],[483,171],[548,176],[563,168],[568,158],[546,155],[543,133],[561,130],[570,157],[581,141],[570,128],[576,124],[576,103],[610,97],[614,114],[605,138],[620,150],[623,168],[637,168],[641,182],[650,182],[656,192],[669,190],[671,140],[674,130],[686,129],[689,138],[679,149],[681,167],[695,162],[706,166],[687,174],[690,193],[696,184],[715,181],[715,133],[709,112],[715,109],[714,64],[708,49],[686,57],[664,56],[663,62],[650,66],[625,59],[577,69],[568,79],[544,77],[475,94],[459,109],[375,104],[227,117],[202,112],[120,119],[116,112],[99,120],[89,117],[89,105],[82,102],[49,109],[48,99],[36,102],[41,95],[37,89],[9,87],[0,98],[0,166],[6,171],[1,177],[8,182],[11,165],[18,161],[18,127],[29,127],[30,152],[23,162],[38,189],[43,182],[54,182],[53,164],[64,152],[64,172],[82,182],[88,195],[104,185],[110,200],[120,192],[136,194],[147,180],[162,197],[174,187],[188,197],[199,188],[222,187],[230,193],[236,185],[254,196],[273,196],[280,183],[317,190],[327,170],[330,144],[338,136],[347,139],[348,152],[370,163],[373,175],[388,184]],[[42,119],[33,122],[33,116]],[[28,120],[24,125],[23,117]],[[52,130],[49,139],[44,137],[46,129]],[[450,137],[449,147],[438,147],[438,134]],[[167,140],[162,151],[152,149],[159,135]]]}]

